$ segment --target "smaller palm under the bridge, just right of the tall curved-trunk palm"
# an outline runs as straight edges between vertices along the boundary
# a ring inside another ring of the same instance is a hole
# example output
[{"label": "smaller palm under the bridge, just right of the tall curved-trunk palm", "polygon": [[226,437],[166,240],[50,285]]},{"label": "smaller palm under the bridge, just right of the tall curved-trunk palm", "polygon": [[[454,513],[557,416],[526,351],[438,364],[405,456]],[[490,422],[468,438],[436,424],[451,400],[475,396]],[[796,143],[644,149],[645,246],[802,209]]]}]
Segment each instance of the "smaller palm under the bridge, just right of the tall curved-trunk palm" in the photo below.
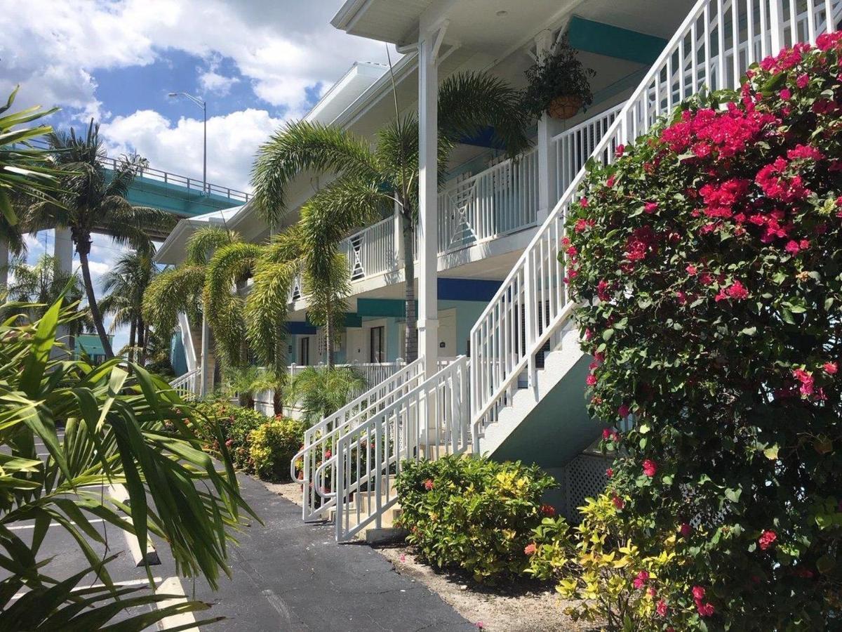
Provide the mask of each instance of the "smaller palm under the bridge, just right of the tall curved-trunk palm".
[{"label": "smaller palm under the bridge, just right of the tall curved-trunk palm", "polygon": [[148,326],[143,319],[143,294],[157,276],[157,268],[148,251],[133,250],[120,256],[112,270],[100,281],[105,296],[99,301],[103,314],[113,314],[111,331],[129,326],[129,362],[146,363]]}]

